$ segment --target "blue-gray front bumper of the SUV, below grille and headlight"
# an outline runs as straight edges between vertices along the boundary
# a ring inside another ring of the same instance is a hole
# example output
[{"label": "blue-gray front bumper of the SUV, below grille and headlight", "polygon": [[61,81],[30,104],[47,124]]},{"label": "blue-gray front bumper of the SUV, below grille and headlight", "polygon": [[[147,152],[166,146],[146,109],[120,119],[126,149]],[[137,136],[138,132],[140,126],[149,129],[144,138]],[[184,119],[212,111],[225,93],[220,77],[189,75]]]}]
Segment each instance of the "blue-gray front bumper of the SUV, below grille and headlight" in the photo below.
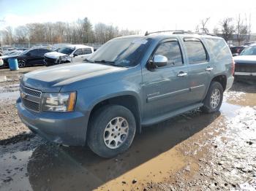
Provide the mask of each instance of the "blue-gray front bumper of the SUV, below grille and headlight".
[{"label": "blue-gray front bumper of the SUV, below grille and headlight", "polygon": [[20,120],[39,136],[58,144],[83,146],[86,144],[86,130],[89,114],[81,112],[54,113],[32,112],[20,101],[16,103]]}]

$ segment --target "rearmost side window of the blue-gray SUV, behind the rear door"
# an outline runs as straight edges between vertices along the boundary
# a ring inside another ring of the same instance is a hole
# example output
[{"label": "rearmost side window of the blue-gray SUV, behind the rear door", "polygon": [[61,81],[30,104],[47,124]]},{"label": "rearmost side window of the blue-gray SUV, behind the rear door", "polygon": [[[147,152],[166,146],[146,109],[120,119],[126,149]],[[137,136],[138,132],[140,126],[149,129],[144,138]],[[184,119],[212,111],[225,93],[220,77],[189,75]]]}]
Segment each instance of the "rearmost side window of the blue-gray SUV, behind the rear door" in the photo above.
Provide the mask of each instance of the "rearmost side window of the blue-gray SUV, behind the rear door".
[{"label": "rearmost side window of the blue-gray SUV, behind the rear door", "polygon": [[217,61],[222,61],[231,57],[230,48],[224,39],[204,39],[209,50],[214,54]]}]

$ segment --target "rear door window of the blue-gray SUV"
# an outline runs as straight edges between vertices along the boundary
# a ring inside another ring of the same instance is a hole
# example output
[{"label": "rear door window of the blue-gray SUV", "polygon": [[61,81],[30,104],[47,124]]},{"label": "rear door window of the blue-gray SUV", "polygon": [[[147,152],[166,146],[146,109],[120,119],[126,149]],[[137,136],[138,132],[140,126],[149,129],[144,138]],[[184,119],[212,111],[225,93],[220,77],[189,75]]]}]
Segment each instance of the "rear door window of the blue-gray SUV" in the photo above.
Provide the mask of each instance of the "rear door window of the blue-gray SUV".
[{"label": "rear door window of the blue-gray SUV", "polygon": [[189,63],[203,63],[207,61],[206,50],[198,39],[184,39]]}]

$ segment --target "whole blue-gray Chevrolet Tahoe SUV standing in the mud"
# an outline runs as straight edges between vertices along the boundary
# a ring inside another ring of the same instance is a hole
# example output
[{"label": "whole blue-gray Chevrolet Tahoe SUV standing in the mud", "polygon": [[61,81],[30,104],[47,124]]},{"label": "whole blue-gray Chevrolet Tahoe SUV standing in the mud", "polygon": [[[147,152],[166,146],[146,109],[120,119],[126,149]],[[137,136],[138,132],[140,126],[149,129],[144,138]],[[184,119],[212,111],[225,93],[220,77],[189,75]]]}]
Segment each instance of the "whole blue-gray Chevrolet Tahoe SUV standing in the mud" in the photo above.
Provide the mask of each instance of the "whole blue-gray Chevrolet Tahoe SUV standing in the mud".
[{"label": "whole blue-gray Chevrolet Tahoe SUV standing in the mud", "polygon": [[217,112],[233,72],[230,49],[217,36],[124,36],[85,63],[25,74],[18,115],[49,141],[87,144],[97,155],[113,157],[130,147],[143,126],[197,108]]}]

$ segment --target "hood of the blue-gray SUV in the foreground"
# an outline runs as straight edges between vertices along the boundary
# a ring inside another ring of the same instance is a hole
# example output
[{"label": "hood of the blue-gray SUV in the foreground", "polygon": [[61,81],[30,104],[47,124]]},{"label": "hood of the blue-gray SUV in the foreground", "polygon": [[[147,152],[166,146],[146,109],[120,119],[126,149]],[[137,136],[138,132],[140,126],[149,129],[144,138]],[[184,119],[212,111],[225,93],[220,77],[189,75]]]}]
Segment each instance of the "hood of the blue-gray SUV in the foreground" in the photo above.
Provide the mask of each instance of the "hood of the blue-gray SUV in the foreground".
[{"label": "hood of the blue-gray SUV in the foreground", "polygon": [[67,63],[29,72],[23,76],[21,83],[42,92],[59,92],[65,85],[72,89],[113,81],[113,73],[125,70],[127,68],[98,63]]}]

